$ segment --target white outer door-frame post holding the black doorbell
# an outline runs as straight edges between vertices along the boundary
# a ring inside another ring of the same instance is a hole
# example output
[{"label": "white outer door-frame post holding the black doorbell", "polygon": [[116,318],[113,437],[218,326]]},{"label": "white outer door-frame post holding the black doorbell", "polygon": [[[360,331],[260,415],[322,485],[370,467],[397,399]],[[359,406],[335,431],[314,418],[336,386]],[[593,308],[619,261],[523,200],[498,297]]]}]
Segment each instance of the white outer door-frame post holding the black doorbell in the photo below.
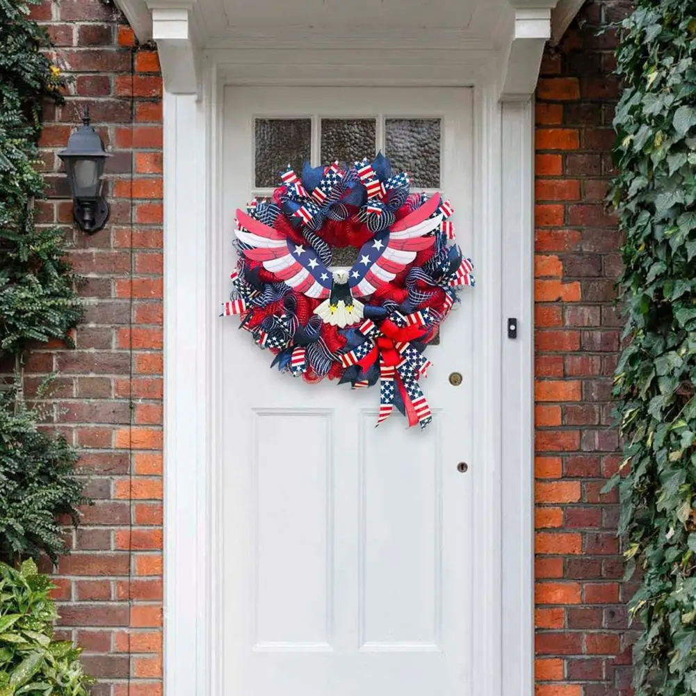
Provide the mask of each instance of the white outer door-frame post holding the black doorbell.
[{"label": "white outer door-frame post holding the black doorbell", "polygon": [[[503,319],[517,319],[503,340],[502,441],[503,693],[532,693],[534,648],[534,104],[503,104]],[[503,329],[505,331],[505,329]]]}]

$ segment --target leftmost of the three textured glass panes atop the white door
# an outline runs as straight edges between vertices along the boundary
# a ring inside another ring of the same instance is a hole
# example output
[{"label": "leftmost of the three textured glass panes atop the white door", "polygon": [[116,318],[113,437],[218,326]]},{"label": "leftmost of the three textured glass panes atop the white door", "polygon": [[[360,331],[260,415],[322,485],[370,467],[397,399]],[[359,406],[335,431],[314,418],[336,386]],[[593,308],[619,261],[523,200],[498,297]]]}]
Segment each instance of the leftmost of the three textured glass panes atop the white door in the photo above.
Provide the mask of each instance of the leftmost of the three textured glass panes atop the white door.
[{"label": "leftmost of the three textured glass panes atop the white door", "polygon": [[298,173],[309,161],[312,147],[310,118],[257,118],[255,122],[255,185],[277,187],[287,165]]}]

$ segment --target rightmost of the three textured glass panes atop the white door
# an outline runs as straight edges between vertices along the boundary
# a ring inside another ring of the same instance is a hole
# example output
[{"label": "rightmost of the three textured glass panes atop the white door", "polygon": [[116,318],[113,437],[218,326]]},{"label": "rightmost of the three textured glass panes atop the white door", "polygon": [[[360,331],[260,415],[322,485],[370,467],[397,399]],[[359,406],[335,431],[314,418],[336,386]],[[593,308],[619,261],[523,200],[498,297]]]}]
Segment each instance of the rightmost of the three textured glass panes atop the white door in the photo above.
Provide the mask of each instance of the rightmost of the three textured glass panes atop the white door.
[{"label": "rightmost of the three textured glass panes atop the white door", "polygon": [[439,187],[439,118],[388,118],[384,135],[384,150],[392,168],[408,172],[412,187]]}]

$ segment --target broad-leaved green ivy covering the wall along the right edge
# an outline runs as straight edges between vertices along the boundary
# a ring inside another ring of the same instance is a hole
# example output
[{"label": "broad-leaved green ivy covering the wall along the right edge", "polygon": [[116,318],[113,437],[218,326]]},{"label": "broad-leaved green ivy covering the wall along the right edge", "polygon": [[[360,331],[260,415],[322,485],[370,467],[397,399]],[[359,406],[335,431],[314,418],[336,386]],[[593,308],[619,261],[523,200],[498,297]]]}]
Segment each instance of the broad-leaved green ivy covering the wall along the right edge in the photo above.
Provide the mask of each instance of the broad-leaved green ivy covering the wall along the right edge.
[{"label": "broad-leaved green ivy covering the wall along the right edge", "polygon": [[624,438],[619,533],[637,696],[696,692],[696,2],[637,0],[623,22],[618,175],[628,340],[615,375]]}]

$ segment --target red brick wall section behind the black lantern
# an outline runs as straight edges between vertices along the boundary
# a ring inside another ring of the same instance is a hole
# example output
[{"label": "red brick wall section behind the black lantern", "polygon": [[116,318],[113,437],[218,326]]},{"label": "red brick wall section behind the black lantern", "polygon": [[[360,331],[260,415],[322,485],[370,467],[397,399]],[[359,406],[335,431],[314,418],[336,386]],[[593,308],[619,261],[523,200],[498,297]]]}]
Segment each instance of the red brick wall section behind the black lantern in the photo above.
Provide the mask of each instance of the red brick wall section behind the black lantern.
[{"label": "red brick wall section behind the black lantern", "polygon": [[[56,583],[62,630],[84,647],[97,694],[161,693],[162,177],[157,54],[138,49],[113,3],[44,0],[33,12],[56,45],[68,81],[50,107],[41,145],[50,198],[40,222],[69,230],[70,258],[86,277],[86,319],[75,350],[33,352],[30,383],[59,374],[57,417],[83,450],[96,500],[72,533]],[[89,104],[113,157],[111,205],[93,236],[71,226],[56,152]],[[130,685],[130,688],[129,688]]]}]

